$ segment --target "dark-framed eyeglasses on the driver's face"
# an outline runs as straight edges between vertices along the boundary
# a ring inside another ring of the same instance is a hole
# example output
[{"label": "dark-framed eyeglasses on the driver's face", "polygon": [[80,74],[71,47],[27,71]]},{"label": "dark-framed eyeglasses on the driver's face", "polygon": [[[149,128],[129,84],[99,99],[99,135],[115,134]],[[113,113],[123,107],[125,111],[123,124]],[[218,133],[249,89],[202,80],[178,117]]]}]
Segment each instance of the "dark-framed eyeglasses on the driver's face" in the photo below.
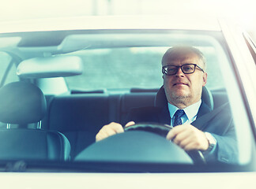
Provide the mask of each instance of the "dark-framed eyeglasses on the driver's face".
[{"label": "dark-framed eyeglasses on the driver's face", "polygon": [[181,66],[176,66],[176,65],[164,65],[162,67],[162,73],[167,75],[167,76],[172,76],[175,75],[179,68],[183,71],[185,74],[190,74],[194,73],[196,67],[201,70],[201,72],[205,72],[203,69],[201,69],[198,65],[196,64],[186,64],[186,65],[181,65]]}]

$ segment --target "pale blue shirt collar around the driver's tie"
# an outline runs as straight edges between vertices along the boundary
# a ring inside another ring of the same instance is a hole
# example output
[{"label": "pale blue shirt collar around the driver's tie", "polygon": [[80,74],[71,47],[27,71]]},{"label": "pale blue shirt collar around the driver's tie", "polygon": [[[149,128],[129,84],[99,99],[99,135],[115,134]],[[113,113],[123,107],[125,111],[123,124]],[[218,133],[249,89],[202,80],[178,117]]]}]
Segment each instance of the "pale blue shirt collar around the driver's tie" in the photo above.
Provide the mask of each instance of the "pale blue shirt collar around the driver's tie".
[{"label": "pale blue shirt collar around the driver's tie", "polygon": [[[186,117],[188,118],[188,120],[191,120],[193,117],[197,116],[200,106],[201,106],[201,99],[198,102],[194,103],[193,105],[190,105],[190,106],[186,107],[185,109],[183,109],[184,112],[186,113]],[[171,105],[168,102],[168,109],[170,112],[170,117],[172,119],[172,117],[174,117],[175,112],[179,108],[177,108],[174,105]]]}]

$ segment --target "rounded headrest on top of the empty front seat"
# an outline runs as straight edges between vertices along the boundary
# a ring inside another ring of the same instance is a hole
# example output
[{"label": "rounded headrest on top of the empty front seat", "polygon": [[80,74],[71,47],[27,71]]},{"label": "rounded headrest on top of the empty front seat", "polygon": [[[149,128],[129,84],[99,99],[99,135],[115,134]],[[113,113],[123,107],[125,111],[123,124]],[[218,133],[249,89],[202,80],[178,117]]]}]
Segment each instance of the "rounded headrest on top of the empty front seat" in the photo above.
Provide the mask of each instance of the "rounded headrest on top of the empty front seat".
[{"label": "rounded headrest on top of the empty front seat", "polygon": [[32,83],[13,82],[0,88],[0,121],[6,124],[31,124],[43,119],[46,99]]}]

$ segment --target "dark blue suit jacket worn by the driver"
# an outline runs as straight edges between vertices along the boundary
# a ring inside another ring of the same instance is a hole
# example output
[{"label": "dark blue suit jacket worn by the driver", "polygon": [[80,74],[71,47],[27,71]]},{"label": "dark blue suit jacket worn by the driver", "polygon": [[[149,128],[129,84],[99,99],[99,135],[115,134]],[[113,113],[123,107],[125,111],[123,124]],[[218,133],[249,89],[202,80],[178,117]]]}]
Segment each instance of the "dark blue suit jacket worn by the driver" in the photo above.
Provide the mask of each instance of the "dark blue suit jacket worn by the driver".
[{"label": "dark blue suit jacket worn by the driver", "polygon": [[[171,117],[168,110],[168,101],[163,91],[156,96],[156,105],[131,109],[127,121],[156,122],[170,124]],[[221,161],[235,163],[238,158],[235,128],[228,103],[216,109],[209,109],[202,99],[198,110],[198,117],[191,123],[203,132],[210,132],[217,141],[215,153],[205,155],[206,161]]]}]

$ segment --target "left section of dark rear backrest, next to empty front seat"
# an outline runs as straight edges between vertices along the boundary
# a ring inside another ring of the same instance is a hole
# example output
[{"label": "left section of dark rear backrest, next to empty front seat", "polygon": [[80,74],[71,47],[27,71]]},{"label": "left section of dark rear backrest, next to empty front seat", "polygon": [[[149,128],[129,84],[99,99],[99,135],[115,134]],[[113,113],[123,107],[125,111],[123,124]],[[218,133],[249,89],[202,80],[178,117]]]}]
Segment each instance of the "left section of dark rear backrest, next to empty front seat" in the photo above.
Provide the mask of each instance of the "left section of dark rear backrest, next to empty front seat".
[{"label": "left section of dark rear backrest, next to empty front seat", "polygon": [[95,141],[100,128],[109,123],[108,95],[64,95],[51,99],[43,129],[62,132],[70,140],[71,158]]}]

